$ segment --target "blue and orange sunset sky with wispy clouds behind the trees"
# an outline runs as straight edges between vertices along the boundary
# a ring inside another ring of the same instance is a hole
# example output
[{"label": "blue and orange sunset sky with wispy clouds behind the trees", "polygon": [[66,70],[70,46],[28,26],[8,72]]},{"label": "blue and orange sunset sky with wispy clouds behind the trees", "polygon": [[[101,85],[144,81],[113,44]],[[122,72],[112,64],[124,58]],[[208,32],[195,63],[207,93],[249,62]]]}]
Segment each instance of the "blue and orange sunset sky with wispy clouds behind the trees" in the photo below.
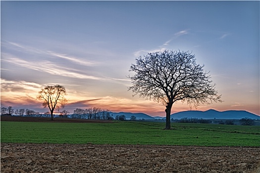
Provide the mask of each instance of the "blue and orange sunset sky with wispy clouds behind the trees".
[{"label": "blue and orange sunset sky with wispy clouds behind the trees", "polygon": [[[133,97],[128,75],[148,52],[190,51],[222,103],[197,110],[260,115],[260,1],[0,1],[1,107],[48,112],[36,97],[59,84],[64,109],[165,116]],[[191,110],[177,102],[171,113]],[[196,108],[192,108],[196,110]]]}]

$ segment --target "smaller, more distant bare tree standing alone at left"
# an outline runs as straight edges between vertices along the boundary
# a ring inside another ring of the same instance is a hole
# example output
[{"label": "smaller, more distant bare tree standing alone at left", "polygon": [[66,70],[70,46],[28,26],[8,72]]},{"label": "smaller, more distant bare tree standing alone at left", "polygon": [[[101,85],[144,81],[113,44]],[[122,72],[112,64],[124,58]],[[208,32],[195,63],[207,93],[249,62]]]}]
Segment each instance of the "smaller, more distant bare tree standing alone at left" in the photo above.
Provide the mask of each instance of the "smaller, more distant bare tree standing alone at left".
[{"label": "smaller, more distant bare tree standing alone at left", "polygon": [[57,108],[63,108],[67,103],[65,98],[67,95],[66,89],[63,86],[46,86],[39,91],[38,99],[43,100],[43,106],[50,109],[51,120],[53,120],[53,112]]}]

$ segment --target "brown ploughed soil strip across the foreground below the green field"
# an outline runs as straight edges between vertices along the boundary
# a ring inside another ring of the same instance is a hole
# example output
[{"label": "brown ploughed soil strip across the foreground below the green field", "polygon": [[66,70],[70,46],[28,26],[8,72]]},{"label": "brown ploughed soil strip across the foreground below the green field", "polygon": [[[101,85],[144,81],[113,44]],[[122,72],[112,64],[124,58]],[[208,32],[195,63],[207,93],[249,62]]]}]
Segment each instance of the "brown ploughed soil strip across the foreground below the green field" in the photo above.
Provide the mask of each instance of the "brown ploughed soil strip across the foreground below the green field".
[{"label": "brown ploughed soil strip across the foreground below the green field", "polygon": [[0,148],[1,173],[260,173],[259,147],[1,143]]}]

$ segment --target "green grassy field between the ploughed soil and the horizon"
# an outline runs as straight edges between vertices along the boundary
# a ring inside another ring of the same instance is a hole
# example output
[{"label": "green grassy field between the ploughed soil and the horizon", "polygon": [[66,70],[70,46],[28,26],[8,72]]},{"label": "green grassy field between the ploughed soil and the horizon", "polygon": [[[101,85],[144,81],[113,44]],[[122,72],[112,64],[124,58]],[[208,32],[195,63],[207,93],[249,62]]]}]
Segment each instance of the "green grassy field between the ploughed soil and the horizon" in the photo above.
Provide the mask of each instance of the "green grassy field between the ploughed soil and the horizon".
[{"label": "green grassy field between the ploughed soil and the horizon", "polygon": [[1,142],[260,147],[260,127],[173,123],[1,122]]}]

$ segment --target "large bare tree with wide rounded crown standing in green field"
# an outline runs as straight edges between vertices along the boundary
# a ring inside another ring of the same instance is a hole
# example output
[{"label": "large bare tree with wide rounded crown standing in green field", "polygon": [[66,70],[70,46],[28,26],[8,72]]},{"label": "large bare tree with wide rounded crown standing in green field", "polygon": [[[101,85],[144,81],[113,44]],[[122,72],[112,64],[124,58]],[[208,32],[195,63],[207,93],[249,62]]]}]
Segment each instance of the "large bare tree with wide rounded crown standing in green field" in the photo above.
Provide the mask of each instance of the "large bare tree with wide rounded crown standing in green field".
[{"label": "large bare tree with wide rounded crown standing in green field", "polygon": [[173,103],[187,101],[190,107],[220,101],[210,75],[196,63],[195,55],[189,51],[164,50],[148,53],[136,58],[128,76],[132,90],[140,97],[153,99],[166,106],[166,126],[170,129],[170,114]]}]

